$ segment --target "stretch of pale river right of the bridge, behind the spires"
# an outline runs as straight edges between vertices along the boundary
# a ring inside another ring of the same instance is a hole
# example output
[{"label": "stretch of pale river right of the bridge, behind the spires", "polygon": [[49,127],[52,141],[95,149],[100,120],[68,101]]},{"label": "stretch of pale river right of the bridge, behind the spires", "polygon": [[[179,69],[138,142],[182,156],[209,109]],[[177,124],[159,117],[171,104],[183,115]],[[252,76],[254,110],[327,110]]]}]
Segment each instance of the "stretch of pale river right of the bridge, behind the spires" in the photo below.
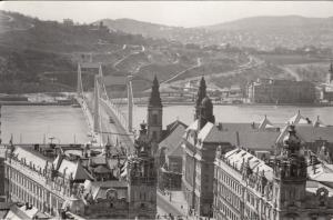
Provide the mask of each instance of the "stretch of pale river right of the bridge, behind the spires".
[{"label": "stretch of pale river right of the bridge, behind the spires", "polygon": [[[291,106],[214,106],[216,122],[259,122],[266,114],[272,123],[285,123],[297,111],[311,120],[317,116],[325,124],[333,124],[333,107],[291,107]],[[133,124],[138,126],[147,118],[147,107],[134,108]],[[179,119],[185,124],[193,122],[194,106],[163,107],[163,127]],[[333,133],[332,133],[333,134]]]}]

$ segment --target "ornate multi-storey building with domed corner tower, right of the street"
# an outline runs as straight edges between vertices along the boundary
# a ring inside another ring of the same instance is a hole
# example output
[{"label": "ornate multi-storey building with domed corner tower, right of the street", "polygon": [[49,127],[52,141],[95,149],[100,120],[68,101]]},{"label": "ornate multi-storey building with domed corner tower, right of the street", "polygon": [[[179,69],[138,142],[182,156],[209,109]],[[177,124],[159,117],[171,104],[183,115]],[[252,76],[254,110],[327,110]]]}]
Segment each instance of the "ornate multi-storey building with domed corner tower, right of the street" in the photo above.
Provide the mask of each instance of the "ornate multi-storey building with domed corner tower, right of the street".
[{"label": "ornate multi-storey building with domed corner tower, right of the street", "polygon": [[293,126],[283,151],[269,163],[242,149],[219,148],[214,164],[216,220],[332,218],[333,190],[327,182],[332,184],[333,172],[316,173],[319,164],[307,167]]}]

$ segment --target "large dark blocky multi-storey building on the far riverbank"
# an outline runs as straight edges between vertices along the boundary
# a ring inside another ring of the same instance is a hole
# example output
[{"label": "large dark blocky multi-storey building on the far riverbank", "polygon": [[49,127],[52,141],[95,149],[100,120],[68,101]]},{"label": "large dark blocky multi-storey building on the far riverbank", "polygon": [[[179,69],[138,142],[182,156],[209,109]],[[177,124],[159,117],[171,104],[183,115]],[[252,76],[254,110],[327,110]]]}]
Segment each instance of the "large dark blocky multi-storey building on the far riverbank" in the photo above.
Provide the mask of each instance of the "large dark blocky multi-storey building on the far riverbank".
[{"label": "large dark blocky multi-storey building on the far riverbank", "polygon": [[253,103],[314,103],[315,87],[309,81],[258,79],[248,86]]}]

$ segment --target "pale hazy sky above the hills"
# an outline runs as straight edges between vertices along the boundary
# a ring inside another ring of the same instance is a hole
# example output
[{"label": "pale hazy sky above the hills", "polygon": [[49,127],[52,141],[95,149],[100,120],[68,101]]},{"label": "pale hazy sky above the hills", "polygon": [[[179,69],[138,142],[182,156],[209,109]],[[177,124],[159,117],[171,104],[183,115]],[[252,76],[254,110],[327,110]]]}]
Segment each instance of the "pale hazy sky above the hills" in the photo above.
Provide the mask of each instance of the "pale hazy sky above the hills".
[{"label": "pale hazy sky above the hills", "polygon": [[0,9],[42,20],[130,18],[169,26],[214,24],[253,16],[332,17],[332,1],[7,1]]}]

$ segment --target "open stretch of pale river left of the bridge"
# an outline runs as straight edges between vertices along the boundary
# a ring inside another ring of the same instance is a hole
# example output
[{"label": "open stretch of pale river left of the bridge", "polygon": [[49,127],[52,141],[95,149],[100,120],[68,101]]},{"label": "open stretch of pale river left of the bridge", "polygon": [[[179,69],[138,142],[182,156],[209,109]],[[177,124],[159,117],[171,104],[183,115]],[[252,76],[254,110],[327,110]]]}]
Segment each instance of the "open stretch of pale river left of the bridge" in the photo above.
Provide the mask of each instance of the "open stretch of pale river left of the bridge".
[{"label": "open stretch of pale river left of the bridge", "polygon": [[53,106],[3,106],[2,141],[14,143],[88,142],[89,128],[80,108]]}]

